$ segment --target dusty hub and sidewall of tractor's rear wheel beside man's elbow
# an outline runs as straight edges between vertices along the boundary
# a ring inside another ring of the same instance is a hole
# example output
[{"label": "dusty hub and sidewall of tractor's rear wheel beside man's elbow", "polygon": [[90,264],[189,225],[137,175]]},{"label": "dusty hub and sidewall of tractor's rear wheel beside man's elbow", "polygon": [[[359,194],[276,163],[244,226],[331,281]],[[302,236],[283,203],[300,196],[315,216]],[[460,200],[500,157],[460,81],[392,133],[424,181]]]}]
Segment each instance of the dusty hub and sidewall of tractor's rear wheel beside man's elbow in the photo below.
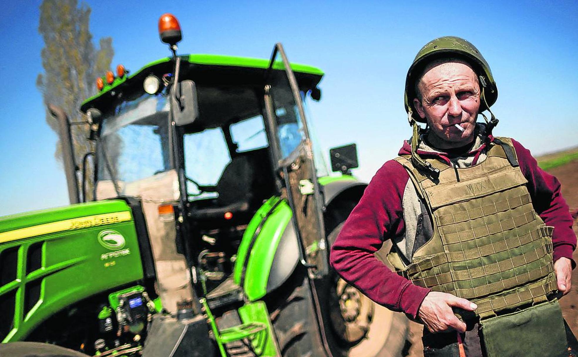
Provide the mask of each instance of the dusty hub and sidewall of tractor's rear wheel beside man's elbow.
[{"label": "dusty hub and sidewall of tractor's rear wheel beside man's elbow", "polygon": [[[333,246],[343,222],[327,237]],[[390,243],[391,244],[391,243]],[[387,248],[387,247],[386,247]],[[384,248],[382,248],[383,250]],[[329,273],[330,326],[336,343],[349,357],[397,357],[406,343],[409,320],[363,295],[347,284],[335,270]]]}]

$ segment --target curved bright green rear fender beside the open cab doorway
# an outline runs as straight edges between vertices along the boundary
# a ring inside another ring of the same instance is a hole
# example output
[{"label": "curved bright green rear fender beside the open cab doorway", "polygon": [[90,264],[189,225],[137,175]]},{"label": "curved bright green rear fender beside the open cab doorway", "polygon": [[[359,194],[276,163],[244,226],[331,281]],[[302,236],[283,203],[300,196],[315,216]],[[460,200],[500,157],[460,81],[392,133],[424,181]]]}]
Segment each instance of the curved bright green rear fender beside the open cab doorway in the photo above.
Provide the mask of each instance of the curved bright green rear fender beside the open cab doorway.
[{"label": "curved bright green rear fender beside the open cab doorway", "polygon": [[249,301],[278,288],[299,262],[291,209],[279,197],[267,200],[249,222],[237,253],[234,280]]}]

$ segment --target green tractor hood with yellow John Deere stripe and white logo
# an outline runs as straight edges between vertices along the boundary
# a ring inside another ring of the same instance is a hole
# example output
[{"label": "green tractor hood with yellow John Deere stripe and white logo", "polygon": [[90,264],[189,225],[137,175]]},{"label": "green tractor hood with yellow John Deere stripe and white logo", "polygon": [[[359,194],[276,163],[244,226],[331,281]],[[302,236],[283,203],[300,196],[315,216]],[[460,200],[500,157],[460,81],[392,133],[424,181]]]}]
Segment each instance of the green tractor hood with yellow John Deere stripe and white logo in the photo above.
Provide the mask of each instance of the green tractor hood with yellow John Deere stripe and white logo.
[{"label": "green tractor hood with yellow John Deere stripe and white logo", "polygon": [[0,341],[23,340],[62,308],[143,278],[131,209],[105,200],[1,217],[0,272]]}]

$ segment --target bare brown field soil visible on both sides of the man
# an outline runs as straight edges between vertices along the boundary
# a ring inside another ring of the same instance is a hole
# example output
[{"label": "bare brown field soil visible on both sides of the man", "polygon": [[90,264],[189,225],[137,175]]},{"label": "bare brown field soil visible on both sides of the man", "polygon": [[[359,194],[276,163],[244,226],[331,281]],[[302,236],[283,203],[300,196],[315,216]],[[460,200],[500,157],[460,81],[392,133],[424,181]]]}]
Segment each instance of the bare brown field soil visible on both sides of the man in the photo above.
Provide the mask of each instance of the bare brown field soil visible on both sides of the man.
[{"label": "bare brown field soil visible on both sides of the man", "polygon": [[[578,160],[567,163],[566,165],[558,166],[557,168],[549,170],[549,173],[558,178],[562,185],[562,196],[570,207],[570,212],[574,213],[574,233],[578,235]],[[574,252],[574,260],[578,262],[578,250]],[[578,336],[578,269],[575,269],[572,274],[572,291],[568,295],[562,297],[560,300],[562,306],[562,315],[568,325]],[[406,352],[407,357],[421,357],[423,356],[423,345],[421,344],[421,334],[423,325],[415,322],[410,322],[409,336],[407,346],[409,351]]]}]

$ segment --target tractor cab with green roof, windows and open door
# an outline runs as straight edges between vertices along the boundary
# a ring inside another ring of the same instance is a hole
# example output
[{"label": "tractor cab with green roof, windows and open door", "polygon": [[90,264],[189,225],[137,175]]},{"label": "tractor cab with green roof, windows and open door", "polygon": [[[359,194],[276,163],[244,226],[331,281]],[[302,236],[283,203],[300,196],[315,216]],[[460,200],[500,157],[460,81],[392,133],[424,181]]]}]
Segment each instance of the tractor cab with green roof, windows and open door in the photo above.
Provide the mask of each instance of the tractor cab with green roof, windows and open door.
[{"label": "tractor cab with green roof, windows and open door", "polygon": [[[232,279],[247,226],[272,197],[302,207],[293,223],[301,224],[300,259],[307,261],[308,246],[325,247],[316,187],[327,166],[313,155],[303,110],[303,102],[319,99],[323,72],[283,56],[277,44],[271,61],[161,59],[116,76],[81,107],[96,142],[94,196],[142,205],[169,311],[193,298],[182,285],[194,291],[195,273],[208,277],[209,292]],[[327,257],[314,255],[309,263],[326,272]]]}]

